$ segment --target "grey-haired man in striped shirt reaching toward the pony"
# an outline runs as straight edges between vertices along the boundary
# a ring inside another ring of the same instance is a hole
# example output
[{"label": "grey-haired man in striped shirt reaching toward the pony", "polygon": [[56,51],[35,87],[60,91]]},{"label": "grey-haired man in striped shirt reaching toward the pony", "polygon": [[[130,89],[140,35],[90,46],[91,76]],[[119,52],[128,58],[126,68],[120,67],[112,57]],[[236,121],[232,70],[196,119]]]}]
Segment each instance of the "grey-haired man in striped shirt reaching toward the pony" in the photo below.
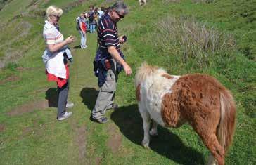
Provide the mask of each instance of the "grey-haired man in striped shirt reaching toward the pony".
[{"label": "grey-haired man in striped shirt reaching toward the pony", "polygon": [[[108,109],[115,109],[117,105],[114,104],[115,90],[117,86],[117,70],[118,65],[121,65],[125,74],[132,74],[132,69],[127,62],[122,58],[120,51],[120,44],[124,43],[122,37],[118,37],[117,22],[124,18],[128,13],[127,6],[122,1],[117,1],[108,11],[103,15],[103,18],[98,21],[98,51],[104,57],[103,70],[105,70],[103,83],[99,84],[100,91],[91,112],[92,119],[99,123],[105,123],[108,119],[105,117],[105,112]],[[104,72],[104,71],[103,71]],[[98,79],[101,79],[98,76]]]}]

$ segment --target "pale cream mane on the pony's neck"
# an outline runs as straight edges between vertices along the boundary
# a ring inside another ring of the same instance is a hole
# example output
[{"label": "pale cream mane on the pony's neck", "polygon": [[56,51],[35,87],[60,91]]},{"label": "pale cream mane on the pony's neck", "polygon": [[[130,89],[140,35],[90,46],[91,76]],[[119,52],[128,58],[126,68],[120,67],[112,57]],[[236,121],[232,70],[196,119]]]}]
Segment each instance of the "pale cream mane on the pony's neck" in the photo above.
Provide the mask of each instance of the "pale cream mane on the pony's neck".
[{"label": "pale cream mane on the pony's neck", "polygon": [[144,81],[146,79],[146,77],[150,76],[151,74],[153,74],[154,72],[156,72],[158,70],[161,72],[166,72],[165,70],[163,70],[160,67],[148,65],[147,62],[143,62],[141,64],[141,67],[139,67],[136,72],[135,86],[138,86],[139,84],[141,84],[141,81]]}]

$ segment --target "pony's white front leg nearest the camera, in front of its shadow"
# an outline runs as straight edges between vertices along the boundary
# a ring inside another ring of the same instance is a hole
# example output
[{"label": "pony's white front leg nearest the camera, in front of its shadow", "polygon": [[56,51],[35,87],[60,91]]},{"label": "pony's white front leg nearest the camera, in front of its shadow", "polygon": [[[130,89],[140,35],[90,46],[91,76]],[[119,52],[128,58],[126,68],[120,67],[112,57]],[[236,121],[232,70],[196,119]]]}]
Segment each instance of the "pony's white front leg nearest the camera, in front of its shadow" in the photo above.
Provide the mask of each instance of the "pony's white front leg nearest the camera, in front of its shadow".
[{"label": "pony's white front leg nearest the camera, in front of its shadow", "polygon": [[149,141],[150,141],[149,128],[151,125],[151,118],[148,112],[145,109],[143,109],[142,106],[139,106],[139,112],[141,112],[141,117],[143,119],[143,129],[144,129],[144,138],[141,142],[141,145],[143,145],[143,147],[149,148]]}]

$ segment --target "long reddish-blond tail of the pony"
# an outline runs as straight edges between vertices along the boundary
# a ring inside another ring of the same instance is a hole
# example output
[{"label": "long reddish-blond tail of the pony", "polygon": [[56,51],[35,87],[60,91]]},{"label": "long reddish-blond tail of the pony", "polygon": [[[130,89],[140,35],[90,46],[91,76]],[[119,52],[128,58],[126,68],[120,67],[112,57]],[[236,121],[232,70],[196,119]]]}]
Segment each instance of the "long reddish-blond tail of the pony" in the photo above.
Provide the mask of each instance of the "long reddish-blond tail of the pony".
[{"label": "long reddish-blond tail of the pony", "polygon": [[232,143],[236,126],[236,105],[231,93],[226,89],[220,92],[220,105],[221,115],[217,128],[217,138],[226,153]]}]

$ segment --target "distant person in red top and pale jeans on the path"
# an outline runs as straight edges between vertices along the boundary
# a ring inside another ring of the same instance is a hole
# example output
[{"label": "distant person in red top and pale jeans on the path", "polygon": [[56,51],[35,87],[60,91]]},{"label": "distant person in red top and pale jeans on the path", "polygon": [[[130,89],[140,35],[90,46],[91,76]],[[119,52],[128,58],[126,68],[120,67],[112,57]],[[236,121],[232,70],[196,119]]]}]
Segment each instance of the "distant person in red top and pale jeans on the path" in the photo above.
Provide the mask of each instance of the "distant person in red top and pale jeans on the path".
[{"label": "distant person in red top and pale jeans on the path", "polygon": [[80,47],[82,49],[87,48],[87,25],[85,22],[84,13],[82,13],[77,19],[77,29],[79,31],[79,34],[81,35]]}]

